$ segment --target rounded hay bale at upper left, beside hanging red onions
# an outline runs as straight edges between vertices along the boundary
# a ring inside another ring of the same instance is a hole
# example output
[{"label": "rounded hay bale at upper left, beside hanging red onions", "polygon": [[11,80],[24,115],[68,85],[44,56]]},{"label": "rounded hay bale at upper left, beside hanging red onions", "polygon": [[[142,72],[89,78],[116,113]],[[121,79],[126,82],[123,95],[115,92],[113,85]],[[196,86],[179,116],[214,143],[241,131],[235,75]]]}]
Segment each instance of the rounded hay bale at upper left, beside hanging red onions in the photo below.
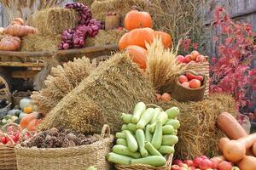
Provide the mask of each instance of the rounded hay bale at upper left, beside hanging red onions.
[{"label": "rounded hay bale at upper left, beside hanging red onions", "polygon": [[47,8],[39,11],[33,19],[33,26],[43,35],[58,35],[78,23],[78,13],[69,8]]}]

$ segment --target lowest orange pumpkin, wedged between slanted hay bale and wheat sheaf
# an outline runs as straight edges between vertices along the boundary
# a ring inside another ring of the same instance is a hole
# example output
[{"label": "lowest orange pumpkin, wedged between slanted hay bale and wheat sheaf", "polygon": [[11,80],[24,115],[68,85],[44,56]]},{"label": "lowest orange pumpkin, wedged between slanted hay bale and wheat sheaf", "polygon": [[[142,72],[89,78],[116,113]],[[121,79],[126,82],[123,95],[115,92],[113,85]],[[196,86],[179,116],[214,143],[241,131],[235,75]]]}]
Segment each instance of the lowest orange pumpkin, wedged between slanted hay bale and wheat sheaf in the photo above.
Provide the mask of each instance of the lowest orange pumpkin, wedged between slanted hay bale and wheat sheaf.
[{"label": "lowest orange pumpkin, wedged between slanted hay bale and wheat sheaf", "polygon": [[146,68],[147,50],[136,45],[131,45],[126,48],[131,60],[136,63],[141,69]]}]

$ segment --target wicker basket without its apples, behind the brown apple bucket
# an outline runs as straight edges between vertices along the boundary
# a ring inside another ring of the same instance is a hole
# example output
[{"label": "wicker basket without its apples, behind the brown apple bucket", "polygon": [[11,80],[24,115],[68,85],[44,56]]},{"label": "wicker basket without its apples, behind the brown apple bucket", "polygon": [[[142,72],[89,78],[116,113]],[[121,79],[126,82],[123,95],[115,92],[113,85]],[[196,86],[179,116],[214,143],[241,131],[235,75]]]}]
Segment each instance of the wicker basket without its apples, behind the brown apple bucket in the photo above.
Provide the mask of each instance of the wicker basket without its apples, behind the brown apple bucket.
[{"label": "wicker basket without its apples, behind the brown apple bucket", "polygon": [[185,71],[195,71],[197,74],[204,75],[207,77],[205,97],[209,95],[209,85],[210,85],[210,64],[209,62],[204,63],[189,63],[186,66]]}]

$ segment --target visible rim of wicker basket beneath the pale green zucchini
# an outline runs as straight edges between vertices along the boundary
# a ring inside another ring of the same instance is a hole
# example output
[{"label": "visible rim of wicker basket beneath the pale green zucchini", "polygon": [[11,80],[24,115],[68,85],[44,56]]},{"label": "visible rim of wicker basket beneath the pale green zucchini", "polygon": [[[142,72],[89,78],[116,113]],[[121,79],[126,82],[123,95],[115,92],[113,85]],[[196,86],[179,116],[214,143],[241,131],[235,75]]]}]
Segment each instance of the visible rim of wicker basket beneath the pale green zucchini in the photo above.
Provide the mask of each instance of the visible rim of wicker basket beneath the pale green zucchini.
[{"label": "visible rim of wicker basket beneath the pale green zucchini", "polygon": [[167,161],[166,161],[165,167],[153,167],[150,165],[135,164],[135,165],[130,165],[130,166],[115,165],[115,168],[117,170],[171,170],[172,157],[173,157],[173,155],[167,156]]}]

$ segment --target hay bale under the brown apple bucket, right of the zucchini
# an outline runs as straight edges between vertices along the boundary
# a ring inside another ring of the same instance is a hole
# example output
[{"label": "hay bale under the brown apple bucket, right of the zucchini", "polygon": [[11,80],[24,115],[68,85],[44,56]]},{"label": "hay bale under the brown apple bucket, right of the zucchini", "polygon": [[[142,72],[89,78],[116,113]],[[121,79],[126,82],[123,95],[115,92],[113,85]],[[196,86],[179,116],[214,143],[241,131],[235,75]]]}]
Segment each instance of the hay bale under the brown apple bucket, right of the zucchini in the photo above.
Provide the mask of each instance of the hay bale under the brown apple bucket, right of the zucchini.
[{"label": "hay bale under the brown apple bucket, right of the zucchini", "polygon": [[218,155],[218,139],[224,137],[224,133],[217,127],[217,117],[223,111],[236,114],[235,101],[230,95],[212,94],[200,102],[179,103],[172,100],[169,104],[160,105],[164,109],[177,106],[181,111],[176,158],[185,160],[201,155]]}]

